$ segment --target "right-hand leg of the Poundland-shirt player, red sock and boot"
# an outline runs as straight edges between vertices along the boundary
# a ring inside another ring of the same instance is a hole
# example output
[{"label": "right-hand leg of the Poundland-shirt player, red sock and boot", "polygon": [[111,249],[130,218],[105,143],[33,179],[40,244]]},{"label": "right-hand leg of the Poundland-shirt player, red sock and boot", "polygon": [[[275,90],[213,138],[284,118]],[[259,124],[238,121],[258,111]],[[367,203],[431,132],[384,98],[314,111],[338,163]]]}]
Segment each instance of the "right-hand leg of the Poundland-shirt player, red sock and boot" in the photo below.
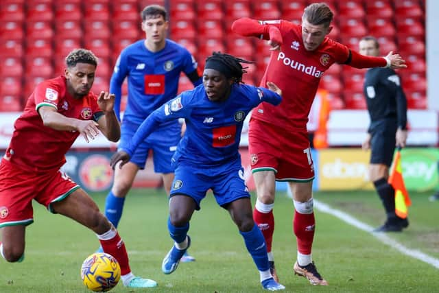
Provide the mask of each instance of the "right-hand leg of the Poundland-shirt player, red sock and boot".
[{"label": "right-hand leg of the Poundland-shirt player, red sock and boot", "polygon": [[312,181],[305,183],[289,183],[294,202],[294,234],[297,239],[297,261],[294,263],[294,273],[305,277],[312,285],[328,285],[320,276],[313,262],[311,248],[316,228],[313,211]]}]

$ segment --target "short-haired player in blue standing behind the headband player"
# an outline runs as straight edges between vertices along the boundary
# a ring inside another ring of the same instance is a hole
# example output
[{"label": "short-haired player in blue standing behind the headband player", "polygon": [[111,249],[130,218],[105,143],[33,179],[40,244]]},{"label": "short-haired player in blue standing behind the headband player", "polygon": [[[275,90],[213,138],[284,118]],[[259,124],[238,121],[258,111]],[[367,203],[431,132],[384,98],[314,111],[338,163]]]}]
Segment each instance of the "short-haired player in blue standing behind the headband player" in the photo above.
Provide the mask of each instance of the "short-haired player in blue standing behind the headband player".
[{"label": "short-haired player in blue standing behind the headband player", "polygon": [[[160,5],[146,6],[141,12],[145,39],[121,51],[110,81],[115,93],[115,111],[120,121],[121,85],[128,77],[128,102],[121,123],[119,148],[125,148],[134,132],[153,110],[176,97],[180,73],[184,72],[194,86],[201,84],[198,64],[187,49],[166,38],[169,26],[167,12]],[[125,197],[139,169],[145,167],[148,152],[153,151],[154,172],[160,173],[169,194],[174,179],[171,157],[181,138],[178,121],[169,121],[156,128],[154,134],[137,148],[131,161],[116,168],[114,183],[108,193],[105,215],[115,227],[122,216]],[[185,261],[193,261],[186,255]]]}]

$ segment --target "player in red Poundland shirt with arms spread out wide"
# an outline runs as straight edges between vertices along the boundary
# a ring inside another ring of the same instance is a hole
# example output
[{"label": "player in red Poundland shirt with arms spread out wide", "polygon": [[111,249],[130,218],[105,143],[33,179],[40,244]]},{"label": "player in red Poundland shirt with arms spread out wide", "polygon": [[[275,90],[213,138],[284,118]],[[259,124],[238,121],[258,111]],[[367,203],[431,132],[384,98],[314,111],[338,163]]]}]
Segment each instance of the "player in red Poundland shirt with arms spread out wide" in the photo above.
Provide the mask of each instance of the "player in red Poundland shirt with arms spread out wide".
[{"label": "player in red Poundland shirt with arms spread out wide", "polygon": [[307,137],[307,120],[320,78],[333,63],[356,68],[405,68],[399,54],[361,56],[345,45],[331,40],[333,12],[324,3],[313,3],[302,15],[302,24],[289,21],[257,21],[238,19],[233,32],[268,40],[272,54],[261,80],[274,82],[283,91],[279,106],[261,103],[252,111],[249,130],[249,152],[257,188],[253,217],[267,242],[272,274],[274,257],[271,252],[274,232],[275,181],[286,181],[294,201],[294,234],[298,257],[294,272],[314,285],[327,285],[311,257],[315,220],[312,180],[314,167]]}]

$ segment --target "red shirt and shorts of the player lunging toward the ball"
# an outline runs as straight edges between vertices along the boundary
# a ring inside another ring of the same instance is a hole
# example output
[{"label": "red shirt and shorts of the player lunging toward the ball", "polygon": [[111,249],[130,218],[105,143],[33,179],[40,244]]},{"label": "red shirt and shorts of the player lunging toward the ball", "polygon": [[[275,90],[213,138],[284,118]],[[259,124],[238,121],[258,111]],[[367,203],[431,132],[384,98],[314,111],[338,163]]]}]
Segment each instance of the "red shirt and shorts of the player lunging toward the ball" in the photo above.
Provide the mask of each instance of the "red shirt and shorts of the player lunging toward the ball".
[{"label": "red shirt and shorts of the player lunging toward the ball", "polygon": [[103,115],[97,97],[88,93],[74,99],[64,76],[36,86],[23,114],[15,121],[8,150],[0,163],[0,228],[33,222],[32,199],[50,209],[79,188],[60,171],[65,154],[78,137],[76,131],[59,131],[43,125],[41,106],[51,106],[65,117],[97,121]]}]

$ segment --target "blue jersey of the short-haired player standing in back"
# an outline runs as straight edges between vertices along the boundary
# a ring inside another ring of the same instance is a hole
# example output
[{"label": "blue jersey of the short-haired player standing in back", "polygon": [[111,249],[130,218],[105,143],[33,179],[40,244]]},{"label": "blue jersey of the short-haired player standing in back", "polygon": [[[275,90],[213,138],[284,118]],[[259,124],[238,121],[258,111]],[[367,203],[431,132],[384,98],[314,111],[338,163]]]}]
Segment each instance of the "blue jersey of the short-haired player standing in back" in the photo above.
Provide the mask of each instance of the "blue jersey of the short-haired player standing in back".
[{"label": "blue jersey of the short-haired player standing in back", "polygon": [[[180,73],[198,69],[195,58],[181,45],[166,40],[161,51],[152,52],[139,40],[122,50],[112,85],[121,85],[128,76],[128,101],[123,119],[141,123],[153,110],[176,97]],[[114,82],[114,83],[113,83]],[[110,89],[111,93],[115,93]]]}]

